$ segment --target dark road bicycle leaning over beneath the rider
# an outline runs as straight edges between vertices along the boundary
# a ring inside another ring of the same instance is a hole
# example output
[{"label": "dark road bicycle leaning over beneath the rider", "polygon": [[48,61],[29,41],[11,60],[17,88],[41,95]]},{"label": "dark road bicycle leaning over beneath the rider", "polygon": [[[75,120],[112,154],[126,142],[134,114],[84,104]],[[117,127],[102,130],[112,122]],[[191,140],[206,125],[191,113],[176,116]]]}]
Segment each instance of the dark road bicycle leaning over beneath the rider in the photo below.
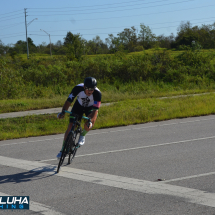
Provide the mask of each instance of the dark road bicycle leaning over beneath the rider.
[{"label": "dark road bicycle leaning over beneath the rider", "polygon": [[[72,112],[70,111],[65,111],[65,112],[72,114]],[[59,173],[60,167],[62,166],[64,159],[67,155],[68,155],[68,164],[72,162],[72,160],[76,155],[76,152],[79,148],[79,145],[78,145],[79,136],[82,132],[81,120],[87,119],[88,124],[91,123],[91,119],[85,116],[80,117],[79,115],[75,114],[72,117],[74,118],[73,125],[64,143],[62,154],[58,163],[57,173]]]}]

